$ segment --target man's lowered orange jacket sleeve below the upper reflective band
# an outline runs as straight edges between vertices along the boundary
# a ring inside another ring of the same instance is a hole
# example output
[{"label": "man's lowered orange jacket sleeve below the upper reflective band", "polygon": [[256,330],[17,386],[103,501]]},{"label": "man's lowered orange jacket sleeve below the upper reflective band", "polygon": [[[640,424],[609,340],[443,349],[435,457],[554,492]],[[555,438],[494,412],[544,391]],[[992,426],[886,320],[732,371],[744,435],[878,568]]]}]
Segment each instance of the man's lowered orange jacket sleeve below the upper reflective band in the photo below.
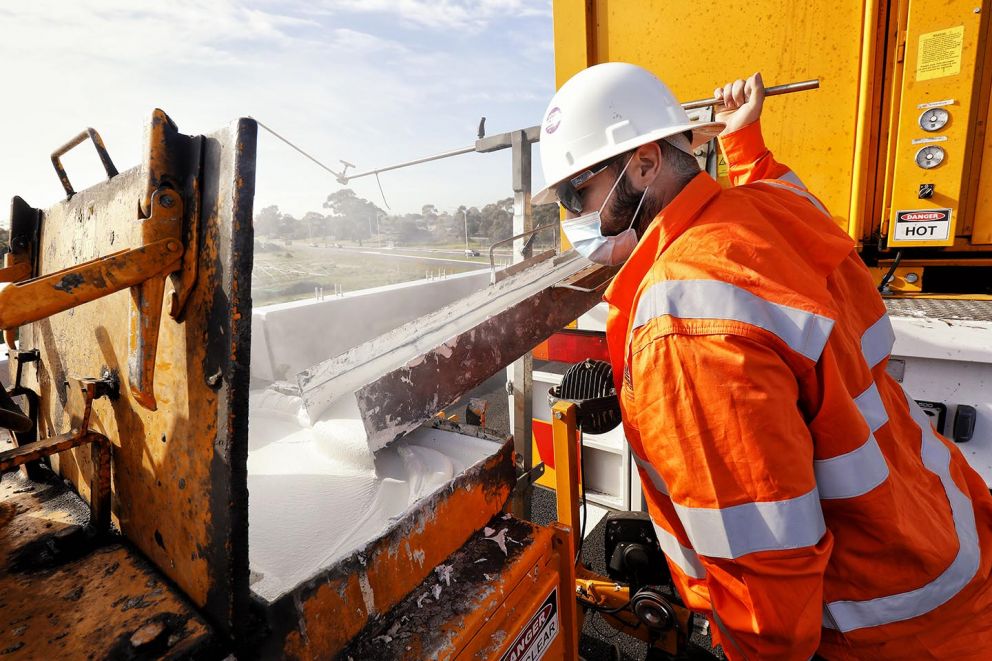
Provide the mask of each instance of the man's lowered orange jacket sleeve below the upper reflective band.
[{"label": "man's lowered orange jacket sleeve below the upper reflective band", "polygon": [[706,570],[728,658],[810,658],[833,538],[792,369],[737,335],[667,335],[630,361],[643,450]]}]

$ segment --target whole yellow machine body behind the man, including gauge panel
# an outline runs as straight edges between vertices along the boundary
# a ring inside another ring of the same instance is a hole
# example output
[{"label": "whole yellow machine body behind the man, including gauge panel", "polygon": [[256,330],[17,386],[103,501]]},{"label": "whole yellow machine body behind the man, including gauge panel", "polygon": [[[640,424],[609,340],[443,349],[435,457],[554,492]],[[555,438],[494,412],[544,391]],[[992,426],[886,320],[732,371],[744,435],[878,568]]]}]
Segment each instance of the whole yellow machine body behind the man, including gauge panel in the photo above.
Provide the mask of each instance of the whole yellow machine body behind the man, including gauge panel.
[{"label": "whole yellow machine body behind the man, including gauge panel", "polygon": [[[987,1],[555,0],[561,85],[599,62],[695,98],[728,72],[819,78],[762,118],[787,163],[902,292],[992,293]],[[732,55],[728,55],[732,53]],[[714,174],[726,176],[719,162]]]}]

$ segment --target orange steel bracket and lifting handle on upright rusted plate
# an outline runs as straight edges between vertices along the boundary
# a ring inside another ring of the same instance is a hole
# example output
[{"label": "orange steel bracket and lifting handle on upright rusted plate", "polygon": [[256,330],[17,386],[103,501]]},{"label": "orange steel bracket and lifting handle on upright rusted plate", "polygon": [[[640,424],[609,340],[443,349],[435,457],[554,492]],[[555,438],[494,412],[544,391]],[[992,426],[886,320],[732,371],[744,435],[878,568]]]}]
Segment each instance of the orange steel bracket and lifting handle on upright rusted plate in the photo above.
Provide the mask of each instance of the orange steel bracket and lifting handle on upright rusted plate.
[{"label": "orange steel bracket and lifting handle on upright rusted plate", "polygon": [[[168,309],[170,316],[178,321],[193,291],[199,261],[198,170],[202,138],[186,146],[180,144],[178,136],[179,131],[172,120],[163,111],[154,110],[145,132],[146,184],[138,205],[140,247],[27,279],[37,275],[40,212],[31,209],[20,198],[15,198],[11,207],[12,252],[5,257],[4,268],[0,270],[0,283],[15,283],[0,284],[0,328],[4,330],[5,341],[11,347],[17,336],[15,329],[25,323],[39,321],[130,288],[128,382],[134,399],[151,411],[157,408],[155,359],[166,280],[170,274],[174,275]],[[69,197],[75,191],[60,158],[87,137],[96,146],[108,178],[117,175],[99,134],[93,129],[86,129],[52,153],[52,163]],[[191,161],[196,164],[197,172],[195,176],[188,177],[184,172]],[[34,238],[28,240],[22,237],[23,245],[15,246],[15,219],[26,218],[30,215],[27,211],[34,213],[31,235]]]}]

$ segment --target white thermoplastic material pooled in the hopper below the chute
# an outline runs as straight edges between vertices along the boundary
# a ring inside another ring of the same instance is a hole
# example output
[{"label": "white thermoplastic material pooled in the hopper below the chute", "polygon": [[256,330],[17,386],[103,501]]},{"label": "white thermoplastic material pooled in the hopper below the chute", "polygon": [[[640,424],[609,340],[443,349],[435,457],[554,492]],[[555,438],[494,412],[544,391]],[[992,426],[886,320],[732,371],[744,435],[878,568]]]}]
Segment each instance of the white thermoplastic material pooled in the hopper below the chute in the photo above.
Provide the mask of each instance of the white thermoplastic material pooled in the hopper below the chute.
[{"label": "white thermoplastic material pooled in the hopper below the chute", "polygon": [[312,427],[299,397],[253,392],[248,431],[248,549],[252,591],[273,601],[384,532],[414,503],[498,443],[420,429],[375,456],[354,399]]}]

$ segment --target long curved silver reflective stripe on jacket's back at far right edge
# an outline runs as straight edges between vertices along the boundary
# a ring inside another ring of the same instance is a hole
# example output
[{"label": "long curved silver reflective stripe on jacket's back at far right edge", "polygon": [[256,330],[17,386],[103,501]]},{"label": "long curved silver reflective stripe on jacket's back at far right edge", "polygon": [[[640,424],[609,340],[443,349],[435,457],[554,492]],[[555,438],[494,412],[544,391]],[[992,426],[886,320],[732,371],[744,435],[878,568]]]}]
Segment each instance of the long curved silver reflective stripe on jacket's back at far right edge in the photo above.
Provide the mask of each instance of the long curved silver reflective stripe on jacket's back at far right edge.
[{"label": "long curved silver reflective stripe on jacket's back at far right edge", "polygon": [[934,434],[927,414],[909,395],[905,396],[913,420],[920,427],[923,465],[940,478],[951,506],[951,518],[958,538],[957,555],[939,576],[916,590],[865,601],[826,604],[827,612],[823,617],[825,627],[847,632],[919,617],[952,599],[978,571],[981,547],[975,527],[975,512],[968,496],[951,478],[951,453]]}]

